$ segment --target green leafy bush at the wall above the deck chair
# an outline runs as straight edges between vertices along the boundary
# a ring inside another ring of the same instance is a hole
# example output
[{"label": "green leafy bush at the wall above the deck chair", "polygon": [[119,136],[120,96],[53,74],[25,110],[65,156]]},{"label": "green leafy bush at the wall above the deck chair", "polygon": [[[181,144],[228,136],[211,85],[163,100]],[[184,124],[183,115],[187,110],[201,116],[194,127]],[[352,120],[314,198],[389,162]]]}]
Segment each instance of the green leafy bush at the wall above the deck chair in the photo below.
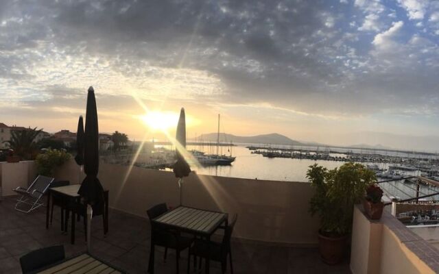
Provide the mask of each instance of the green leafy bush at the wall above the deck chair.
[{"label": "green leafy bush at the wall above the deck chair", "polygon": [[64,150],[47,149],[45,153],[40,153],[36,156],[36,167],[38,174],[45,176],[53,176],[54,169],[57,166],[62,166],[71,158],[71,155]]}]

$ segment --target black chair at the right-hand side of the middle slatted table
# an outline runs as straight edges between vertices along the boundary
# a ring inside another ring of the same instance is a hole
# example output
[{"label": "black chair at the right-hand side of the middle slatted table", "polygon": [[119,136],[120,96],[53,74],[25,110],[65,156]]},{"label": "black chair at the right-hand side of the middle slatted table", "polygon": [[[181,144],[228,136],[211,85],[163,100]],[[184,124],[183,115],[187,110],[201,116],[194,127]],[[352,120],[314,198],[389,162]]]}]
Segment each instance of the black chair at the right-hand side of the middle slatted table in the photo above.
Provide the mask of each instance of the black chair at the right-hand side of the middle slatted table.
[{"label": "black chair at the right-hand side of the middle slatted table", "polygon": [[233,263],[232,263],[232,248],[230,245],[230,238],[232,237],[233,227],[238,219],[237,214],[233,214],[230,219],[230,223],[227,226],[221,226],[224,229],[224,236],[222,242],[214,242],[211,240],[202,240],[196,238],[193,242],[192,247],[189,247],[189,258],[187,260],[187,273],[190,270],[191,256],[193,256],[193,267],[197,265],[198,257],[200,257],[200,262],[198,267],[201,268],[202,259],[209,258],[215,262],[221,262],[222,273],[226,273],[227,269],[227,256],[230,260],[230,273],[233,274]]}]

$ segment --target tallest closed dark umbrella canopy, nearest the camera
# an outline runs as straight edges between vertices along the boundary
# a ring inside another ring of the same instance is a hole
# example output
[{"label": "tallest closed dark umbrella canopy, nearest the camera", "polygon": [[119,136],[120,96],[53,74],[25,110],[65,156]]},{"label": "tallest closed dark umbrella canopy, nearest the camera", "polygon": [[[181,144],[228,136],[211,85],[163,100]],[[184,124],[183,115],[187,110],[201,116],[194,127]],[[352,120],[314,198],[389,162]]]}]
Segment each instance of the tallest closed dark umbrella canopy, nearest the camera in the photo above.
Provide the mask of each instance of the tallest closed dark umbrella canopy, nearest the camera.
[{"label": "tallest closed dark umbrella canopy, nearest the camera", "polygon": [[91,205],[104,201],[104,190],[99,179],[97,179],[98,171],[99,129],[97,125],[95,90],[91,86],[88,88],[84,132],[84,172],[86,177],[78,191],[82,199]]}]

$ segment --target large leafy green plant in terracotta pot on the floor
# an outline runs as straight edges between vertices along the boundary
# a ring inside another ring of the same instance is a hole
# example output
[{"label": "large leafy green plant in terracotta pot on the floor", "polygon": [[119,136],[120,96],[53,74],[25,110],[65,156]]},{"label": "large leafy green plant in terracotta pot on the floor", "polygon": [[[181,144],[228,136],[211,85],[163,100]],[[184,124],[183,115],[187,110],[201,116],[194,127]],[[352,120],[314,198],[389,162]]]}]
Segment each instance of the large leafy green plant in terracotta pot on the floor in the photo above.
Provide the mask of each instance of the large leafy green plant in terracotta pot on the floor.
[{"label": "large leafy green plant in terracotta pot on the floor", "polygon": [[354,204],[364,197],[367,186],[375,182],[375,173],[352,162],[332,170],[313,164],[309,166],[307,178],[316,190],[309,210],[320,216],[320,255],[327,264],[337,264],[348,249]]}]

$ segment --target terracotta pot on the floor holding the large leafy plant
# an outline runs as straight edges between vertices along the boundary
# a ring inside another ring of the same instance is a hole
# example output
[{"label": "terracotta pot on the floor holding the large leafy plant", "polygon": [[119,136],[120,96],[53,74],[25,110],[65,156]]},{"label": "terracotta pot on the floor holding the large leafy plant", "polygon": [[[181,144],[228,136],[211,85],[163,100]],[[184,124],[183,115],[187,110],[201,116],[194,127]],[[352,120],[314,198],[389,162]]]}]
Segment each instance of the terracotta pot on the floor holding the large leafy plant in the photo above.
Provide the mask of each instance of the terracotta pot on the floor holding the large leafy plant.
[{"label": "terracotta pot on the floor holding the large leafy plant", "polygon": [[342,262],[347,250],[347,235],[324,236],[318,232],[318,248],[323,262],[327,264],[338,264]]}]

